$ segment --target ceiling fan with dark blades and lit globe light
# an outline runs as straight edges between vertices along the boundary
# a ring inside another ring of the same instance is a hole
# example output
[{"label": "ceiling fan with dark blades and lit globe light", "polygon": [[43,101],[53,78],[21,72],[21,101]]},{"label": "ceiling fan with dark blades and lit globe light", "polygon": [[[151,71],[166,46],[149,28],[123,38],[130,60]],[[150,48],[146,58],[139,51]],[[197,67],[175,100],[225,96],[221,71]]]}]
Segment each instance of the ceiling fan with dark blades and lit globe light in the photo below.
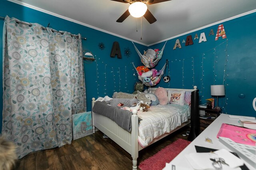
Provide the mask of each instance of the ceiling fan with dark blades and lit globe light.
[{"label": "ceiling fan with dark blades and lit globe light", "polygon": [[[129,9],[116,20],[116,22],[122,22],[124,21],[129,15],[139,18],[144,16],[146,20],[151,24],[156,21],[156,18],[153,16],[153,14],[147,9],[146,4],[157,4],[160,2],[166,2],[169,0],[112,0],[112,1],[117,1],[117,2],[122,2],[122,3],[130,3]],[[136,5],[140,5],[141,7],[137,7]],[[135,14],[134,14],[134,13]],[[140,13],[140,14],[138,14]],[[138,15],[137,15],[138,14]]]}]

